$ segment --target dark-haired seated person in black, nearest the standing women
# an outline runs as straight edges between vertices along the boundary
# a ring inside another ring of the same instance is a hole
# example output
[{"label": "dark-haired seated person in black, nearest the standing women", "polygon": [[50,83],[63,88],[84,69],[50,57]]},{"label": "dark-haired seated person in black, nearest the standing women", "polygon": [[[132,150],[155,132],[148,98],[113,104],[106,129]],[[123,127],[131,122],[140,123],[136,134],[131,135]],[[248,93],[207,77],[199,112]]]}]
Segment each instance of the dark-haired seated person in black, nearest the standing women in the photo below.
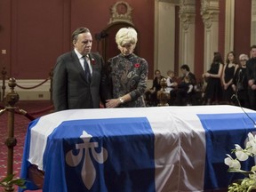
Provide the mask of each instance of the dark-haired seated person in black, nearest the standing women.
[{"label": "dark-haired seated person in black, nearest the standing women", "polygon": [[182,65],[180,70],[183,76],[181,77],[180,84],[178,84],[178,89],[171,93],[171,100],[174,102],[174,105],[191,105],[194,86],[196,85],[196,76],[190,72],[188,65]]}]

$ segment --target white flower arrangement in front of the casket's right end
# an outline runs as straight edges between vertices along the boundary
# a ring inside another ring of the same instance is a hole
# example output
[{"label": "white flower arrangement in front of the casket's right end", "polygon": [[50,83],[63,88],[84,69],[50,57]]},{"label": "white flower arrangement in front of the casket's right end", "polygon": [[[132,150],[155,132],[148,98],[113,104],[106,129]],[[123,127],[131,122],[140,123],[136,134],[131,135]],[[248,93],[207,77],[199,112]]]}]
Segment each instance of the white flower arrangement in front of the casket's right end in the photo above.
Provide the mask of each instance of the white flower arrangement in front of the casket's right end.
[{"label": "white flower arrangement in front of the casket's right end", "polygon": [[236,158],[227,154],[224,163],[229,166],[228,172],[241,172],[246,175],[243,180],[237,180],[228,186],[230,192],[250,192],[256,189],[256,165],[252,166],[251,171],[241,170],[240,162],[246,161],[250,156],[256,156],[256,136],[253,136],[251,132],[248,133],[248,141],[245,148],[241,148],[235,144],[235,149],[231,152],[236,154]]}]

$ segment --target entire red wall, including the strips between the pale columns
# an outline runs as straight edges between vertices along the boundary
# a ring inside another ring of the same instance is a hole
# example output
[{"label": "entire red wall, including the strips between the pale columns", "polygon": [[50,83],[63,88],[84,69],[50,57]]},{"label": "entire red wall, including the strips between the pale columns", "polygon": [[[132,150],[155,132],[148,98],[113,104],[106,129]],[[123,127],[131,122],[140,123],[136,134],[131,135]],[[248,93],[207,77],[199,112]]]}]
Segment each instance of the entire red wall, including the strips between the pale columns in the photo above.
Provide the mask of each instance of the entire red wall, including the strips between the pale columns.
[{"label": "entire red wall, including the strips between the pale columns", "polygon": [[[110,8],[116,0],[1,0],[0,1],[0,69],[17,79],[48,77],[56,58],[72,49],[70,36],[77,27],[88,27],[92,36],[108,27]],[[126,0],[133,8],[134,27],[139,32],[138,52],[148,60],[149,76],[154,73],[155,1]],[[224,54],[225,1],[220,1],[219,52]],[[196,1],[195,74],[204,72],[204,23]],[[238,56],[250,50],[251,1],[236,0],[234,51]],[[176,10],[177,20],[178,12]],[[177,24],[176,27],[179,27]],[[179,28],[175,36],[179,39]],[[179,42],[175,43],[175,62],[179,59]],[[109,48],[111,49],[111,48]],[[6,50],[6,54],[2,51]],[[93,51],[97,51],[96,41]],[[223,55],[225,60],[226,55]],[[175,67],[175,71],[179,71]]]}]

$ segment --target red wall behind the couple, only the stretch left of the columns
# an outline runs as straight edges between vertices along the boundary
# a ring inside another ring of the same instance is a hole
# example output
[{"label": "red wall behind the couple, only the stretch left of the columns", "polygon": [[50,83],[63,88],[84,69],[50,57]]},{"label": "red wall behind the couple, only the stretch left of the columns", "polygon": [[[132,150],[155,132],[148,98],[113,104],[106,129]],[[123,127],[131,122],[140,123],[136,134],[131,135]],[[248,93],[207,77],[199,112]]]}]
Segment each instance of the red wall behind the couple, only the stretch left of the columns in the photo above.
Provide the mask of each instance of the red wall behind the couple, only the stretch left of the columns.
[{"label": "red wall behind the couple, only the stretch left of the columns", "polygon": [[[116,0],[1,0],[0,68],[17,79],[48,77],[57,57],[72,49],[71,33],[84,26],[92,36],[108,26]],[[125,1],[140,33],[140,56],[154,70],[154,1]],[[6,54],[2,54],[6,50]],[[92,51],[96,51],[96,41]]]}]

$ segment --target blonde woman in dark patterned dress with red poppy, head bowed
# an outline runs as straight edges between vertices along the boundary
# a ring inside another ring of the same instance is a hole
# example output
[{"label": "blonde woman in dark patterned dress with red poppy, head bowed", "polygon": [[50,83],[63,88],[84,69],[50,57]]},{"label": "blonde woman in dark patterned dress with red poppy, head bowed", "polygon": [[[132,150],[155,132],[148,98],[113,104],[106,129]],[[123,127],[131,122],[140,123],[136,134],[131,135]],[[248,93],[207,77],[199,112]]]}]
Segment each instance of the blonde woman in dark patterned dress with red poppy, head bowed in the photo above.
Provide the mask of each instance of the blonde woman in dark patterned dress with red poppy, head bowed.
[{"label": "blonde woman in dark patterned dress with red poppy, head bowed", "polygon": [[107,108],[146,107],[143,98],[148,81],[148,62],[133,53],[137,44],[134,28],[120,28],[116,44],[120,54],[108,60],[108,80],[112,99]]}]

